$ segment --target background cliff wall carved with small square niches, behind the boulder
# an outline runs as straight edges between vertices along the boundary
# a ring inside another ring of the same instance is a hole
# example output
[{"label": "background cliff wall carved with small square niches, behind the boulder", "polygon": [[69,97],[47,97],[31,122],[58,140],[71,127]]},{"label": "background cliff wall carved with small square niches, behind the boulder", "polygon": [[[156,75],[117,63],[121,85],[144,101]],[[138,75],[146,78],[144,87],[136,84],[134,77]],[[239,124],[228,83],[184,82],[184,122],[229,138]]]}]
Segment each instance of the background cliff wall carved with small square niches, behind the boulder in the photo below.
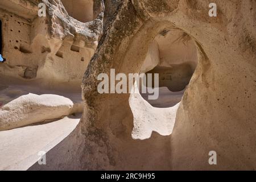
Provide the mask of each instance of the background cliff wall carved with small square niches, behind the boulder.
[{"label": "background cliff wall carved with small square niches, behind the boulder", "polygon": [[[46,5],[46,17],[38,16],[40,2]],[[82,6],[72,7],[71,1],[62,4],[60,0],[1,1],[2,54],[6,62],[0,65],[0,75],[36,80],[48,87],[61,84],[80,88],[102,32],[103,18],[97,3],[80,2]],[[72,11],[71,16],[63,5]],[[90,10],[84,16],[85,23],[75,19],[82,18],[84,8]],[[93,18],[94,13],[97,15]]]}]

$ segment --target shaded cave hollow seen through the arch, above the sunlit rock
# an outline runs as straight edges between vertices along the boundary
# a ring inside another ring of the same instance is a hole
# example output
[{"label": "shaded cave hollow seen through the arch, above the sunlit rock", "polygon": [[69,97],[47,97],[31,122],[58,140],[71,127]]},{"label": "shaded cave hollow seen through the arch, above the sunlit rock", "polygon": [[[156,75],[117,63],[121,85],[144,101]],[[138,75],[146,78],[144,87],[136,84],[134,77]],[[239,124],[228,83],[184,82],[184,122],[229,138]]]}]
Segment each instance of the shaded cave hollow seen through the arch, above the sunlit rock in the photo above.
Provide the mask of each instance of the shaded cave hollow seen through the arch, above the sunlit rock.
[{"label": "shaded cave hollow seen through the arch, above the sunlit rock", "polygon": [[141,96],[153,107],[175,106],[181,101],[196,65],[196,44],[188,34],[176,29],[160,32],[148,48],[141,68],[146,75],[159,74],[159,97],[148,100],[148,93],[140,90]]}]

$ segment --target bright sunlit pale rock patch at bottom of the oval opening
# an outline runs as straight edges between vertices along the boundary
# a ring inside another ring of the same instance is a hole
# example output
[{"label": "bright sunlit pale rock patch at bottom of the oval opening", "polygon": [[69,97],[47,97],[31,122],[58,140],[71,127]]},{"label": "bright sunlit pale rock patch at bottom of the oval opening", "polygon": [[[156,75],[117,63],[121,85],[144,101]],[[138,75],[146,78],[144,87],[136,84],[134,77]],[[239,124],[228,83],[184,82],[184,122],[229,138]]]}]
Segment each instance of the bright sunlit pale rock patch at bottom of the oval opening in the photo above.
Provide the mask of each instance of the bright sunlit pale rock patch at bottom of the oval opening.
[{"label": "bright sunlit pale rock patch at bottom of the oval opening", "polygon": [[[131,92],[129,98],[129,105],[134,117],[134,126],[131,137],[133,139],[148,139],[151,137],[152,131],[155,131],[160,135],[170,135],[174,129],[174,123],[179,103],[172,107],[156,108],[151,106],[146,100],[142,98],[136,82],[134,84],[133,90],[134,92]],[[172,102],[174,102],[173,100],[175,96],[172,97],[170,93],[168,93],[167,96],[171,97]],[[168,97],[167,101],[170,102],[171,99]],[[179,97],[178,100],[181,99],[181,97]],[[164,100],[158,101],[158,103],[161,103],[162,105],[164,105],[164,102]]]}]

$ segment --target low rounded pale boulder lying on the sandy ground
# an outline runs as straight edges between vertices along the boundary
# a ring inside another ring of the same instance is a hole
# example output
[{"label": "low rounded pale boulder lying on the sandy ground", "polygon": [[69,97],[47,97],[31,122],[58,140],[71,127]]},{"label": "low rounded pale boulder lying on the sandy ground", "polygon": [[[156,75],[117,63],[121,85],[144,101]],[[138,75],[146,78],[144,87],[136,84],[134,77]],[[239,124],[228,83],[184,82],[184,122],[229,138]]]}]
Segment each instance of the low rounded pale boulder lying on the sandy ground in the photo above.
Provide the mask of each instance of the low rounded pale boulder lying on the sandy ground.
[{"label": "low rounded pale boulder lying on the sandy ground", "polygon": [[[77,107],[80,109],[75,110]],[[59,119],[73,113],[79,113],[81,109],[81,104],[74,104],[69,98],[63,96],[53,94],[39,96],[29,93],[1,107],[0,130]]]}]

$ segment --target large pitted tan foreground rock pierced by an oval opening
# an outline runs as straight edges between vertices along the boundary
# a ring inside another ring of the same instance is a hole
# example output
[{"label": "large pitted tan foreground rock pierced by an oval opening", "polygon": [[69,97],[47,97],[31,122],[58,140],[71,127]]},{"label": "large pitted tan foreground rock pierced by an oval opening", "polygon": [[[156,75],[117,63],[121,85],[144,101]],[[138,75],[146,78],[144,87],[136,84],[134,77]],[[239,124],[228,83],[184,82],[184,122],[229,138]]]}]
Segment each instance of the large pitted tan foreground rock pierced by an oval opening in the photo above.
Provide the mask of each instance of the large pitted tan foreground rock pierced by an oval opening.
[{"label": "large pitted tan foreground rock pierced by an oval opening", "polygon": [[[217,17],[209,17],[208,0],[104,1],[103,35],[82,80],[81,121],[47,153],[51,163],[30,169],[255,170],[256,2],[215,2]],[[198,65],[172,134],[134,140],[130,94],[99,94],[97,76],[110,68],[138,73],[166,30],[195,42]],[[212,150],[217,165],[208,163]]]}]

